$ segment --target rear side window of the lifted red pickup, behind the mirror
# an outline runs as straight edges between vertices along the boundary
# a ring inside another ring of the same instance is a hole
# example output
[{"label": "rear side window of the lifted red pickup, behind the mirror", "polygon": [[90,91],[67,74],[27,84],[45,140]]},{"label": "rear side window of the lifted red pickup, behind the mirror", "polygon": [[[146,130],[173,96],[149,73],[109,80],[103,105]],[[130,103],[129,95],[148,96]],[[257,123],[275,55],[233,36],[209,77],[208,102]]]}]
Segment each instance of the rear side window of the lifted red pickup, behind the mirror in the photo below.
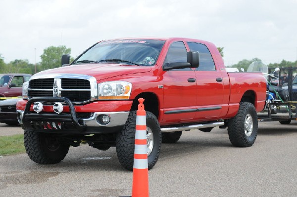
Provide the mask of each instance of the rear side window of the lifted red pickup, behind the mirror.
[{"label": "rear side window of the lifted red pickup, behind the mirror", "polygon": [[215,71],[215,65],[208,48],[204,44],[187,42],[191,51],[199,51],[197,71]]}]

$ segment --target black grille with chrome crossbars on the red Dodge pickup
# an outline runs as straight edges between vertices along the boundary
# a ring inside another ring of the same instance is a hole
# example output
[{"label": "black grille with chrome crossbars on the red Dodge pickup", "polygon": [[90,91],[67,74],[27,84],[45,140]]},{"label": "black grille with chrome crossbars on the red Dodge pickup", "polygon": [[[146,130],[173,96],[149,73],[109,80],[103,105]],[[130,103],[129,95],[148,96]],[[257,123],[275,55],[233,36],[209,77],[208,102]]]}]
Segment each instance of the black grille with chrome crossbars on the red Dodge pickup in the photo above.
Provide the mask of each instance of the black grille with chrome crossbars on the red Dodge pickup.
[{"label": "black grille with chrome crossbars on the red Dodge pickup", "polygon": [[57,92],[60,92],[61,97],[66,97],[73,103],[83,103],[91,100],[91,85],[87,79],[49,78],[31,79],[29,82],[29,98],[53,97],[53,95],[59,95]]}]

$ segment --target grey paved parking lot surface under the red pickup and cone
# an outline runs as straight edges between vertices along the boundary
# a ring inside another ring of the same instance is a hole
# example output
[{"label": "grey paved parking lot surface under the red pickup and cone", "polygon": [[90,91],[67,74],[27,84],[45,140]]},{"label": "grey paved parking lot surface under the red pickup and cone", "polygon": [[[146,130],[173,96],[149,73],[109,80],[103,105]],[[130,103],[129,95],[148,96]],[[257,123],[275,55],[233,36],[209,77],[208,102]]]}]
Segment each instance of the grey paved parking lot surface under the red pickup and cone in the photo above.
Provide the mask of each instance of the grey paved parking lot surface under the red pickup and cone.
[{"label": "grey paved parking lot surface under the red pickup and cone", "polygon": [[[23,133],[0,124],[0,135]],[[255,144],[233,147],[226,129],[184,131],[175,144],[162,144],[149,170],[150,197],[297,196],[297,121],[259,123]],[[26,154],[0,158],[0,197],[130,196],[132,172],[123,169],[115,148],[71,147],[54,165],[39,165]]]}]

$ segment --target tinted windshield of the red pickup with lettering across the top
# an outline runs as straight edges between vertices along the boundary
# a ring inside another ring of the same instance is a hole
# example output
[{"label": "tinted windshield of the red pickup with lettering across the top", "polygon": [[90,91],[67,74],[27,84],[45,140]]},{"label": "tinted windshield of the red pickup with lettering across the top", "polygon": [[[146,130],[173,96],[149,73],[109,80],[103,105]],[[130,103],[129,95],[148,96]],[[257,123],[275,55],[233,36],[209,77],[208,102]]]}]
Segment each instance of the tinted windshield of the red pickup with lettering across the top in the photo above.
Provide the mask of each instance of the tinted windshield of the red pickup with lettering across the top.
[{"label": "tinted windshield of the red pickup with lettering across the top", "polygon": [[72,64],[124,62],[151,66],[156,63],[165,40],[121,39],[99,42]]}]

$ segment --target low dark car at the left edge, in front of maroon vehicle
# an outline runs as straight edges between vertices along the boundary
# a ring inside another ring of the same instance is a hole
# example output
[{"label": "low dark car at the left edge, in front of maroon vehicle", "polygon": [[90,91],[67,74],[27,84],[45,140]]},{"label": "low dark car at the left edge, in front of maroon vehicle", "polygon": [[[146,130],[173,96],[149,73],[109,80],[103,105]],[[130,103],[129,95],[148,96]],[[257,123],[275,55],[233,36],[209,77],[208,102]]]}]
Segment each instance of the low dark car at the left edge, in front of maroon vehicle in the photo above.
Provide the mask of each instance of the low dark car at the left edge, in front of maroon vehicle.
[{"label": "low dark car at the left edge, in front of maroon vehicle", "polygon": [[0,101],[0,122],[8,125],[17,125],[15,105],[21,97],[15,99],[6,99]]}]

